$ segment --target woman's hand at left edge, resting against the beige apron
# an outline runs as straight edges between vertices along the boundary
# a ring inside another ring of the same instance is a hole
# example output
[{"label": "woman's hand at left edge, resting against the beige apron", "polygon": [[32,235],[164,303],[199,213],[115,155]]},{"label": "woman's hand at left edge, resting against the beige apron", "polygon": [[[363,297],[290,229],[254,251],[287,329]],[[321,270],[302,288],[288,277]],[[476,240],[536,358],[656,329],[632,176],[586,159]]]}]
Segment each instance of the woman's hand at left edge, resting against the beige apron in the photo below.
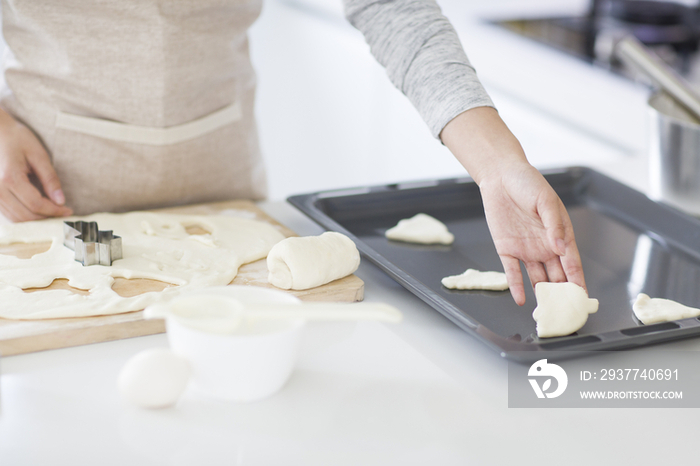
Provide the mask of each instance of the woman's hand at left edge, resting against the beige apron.
[{"label": "woman's hand at left edge, resting against the beige apron", "polygon": [[[30,177],[35,176],[45,197]],[[13,222],[64,217],[61,182],[49,154],[32,131],[0,109],[0,213]]]}]

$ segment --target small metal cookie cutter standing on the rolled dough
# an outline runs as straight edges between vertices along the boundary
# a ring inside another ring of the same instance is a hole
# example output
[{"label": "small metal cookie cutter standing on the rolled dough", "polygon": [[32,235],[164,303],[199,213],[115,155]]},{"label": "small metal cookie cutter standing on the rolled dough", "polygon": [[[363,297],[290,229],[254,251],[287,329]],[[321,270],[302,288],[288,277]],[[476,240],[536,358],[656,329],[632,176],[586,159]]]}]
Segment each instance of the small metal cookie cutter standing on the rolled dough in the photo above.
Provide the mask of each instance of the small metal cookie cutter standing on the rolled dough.
[{"label": "small metal cookie cutter standing on the rolled dough", "polygon": [[99,230],[97,222],[63,222],[63,244],[83,265],[112,265],[122,258],[122,238],[112,230]]}]

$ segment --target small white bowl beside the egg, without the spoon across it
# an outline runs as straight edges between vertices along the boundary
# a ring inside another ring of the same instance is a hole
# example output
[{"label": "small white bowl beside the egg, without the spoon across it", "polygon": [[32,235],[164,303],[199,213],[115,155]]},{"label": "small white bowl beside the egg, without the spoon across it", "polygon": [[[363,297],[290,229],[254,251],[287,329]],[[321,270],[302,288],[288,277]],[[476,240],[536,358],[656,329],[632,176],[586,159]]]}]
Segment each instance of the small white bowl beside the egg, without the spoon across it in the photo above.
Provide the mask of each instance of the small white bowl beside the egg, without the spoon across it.
[{"label": "small white bowl beside the egg, without the spoon across it", "polygon": [[[233,298],[245,304],[296,303],[288,293],[252,286],[213,287],[183,294],[168,303],[177,307],[202,305],[211,297]],[[304,321],[258,321],[231,334],[211,333],[166,317],[168,341],[173,352],[192,364],[192,388],[209,396],[232,401],[255,401],[279,391],[296,362]]]}]

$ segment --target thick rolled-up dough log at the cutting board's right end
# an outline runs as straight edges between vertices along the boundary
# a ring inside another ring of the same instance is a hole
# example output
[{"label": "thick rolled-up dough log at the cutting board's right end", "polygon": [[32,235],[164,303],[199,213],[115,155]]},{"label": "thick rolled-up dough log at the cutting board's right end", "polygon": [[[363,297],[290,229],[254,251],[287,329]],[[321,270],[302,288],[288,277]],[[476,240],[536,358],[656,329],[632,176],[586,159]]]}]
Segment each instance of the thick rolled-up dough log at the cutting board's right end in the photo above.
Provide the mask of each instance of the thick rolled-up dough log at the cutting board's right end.
[{"label": "thick rolled-up dough log at the cutting board's right end", "polygon": [[306,290],[350,275],[360,253],[350,238],[328,231],[321,236],[287,238],[267,255],[268,281],[285,290]]}]

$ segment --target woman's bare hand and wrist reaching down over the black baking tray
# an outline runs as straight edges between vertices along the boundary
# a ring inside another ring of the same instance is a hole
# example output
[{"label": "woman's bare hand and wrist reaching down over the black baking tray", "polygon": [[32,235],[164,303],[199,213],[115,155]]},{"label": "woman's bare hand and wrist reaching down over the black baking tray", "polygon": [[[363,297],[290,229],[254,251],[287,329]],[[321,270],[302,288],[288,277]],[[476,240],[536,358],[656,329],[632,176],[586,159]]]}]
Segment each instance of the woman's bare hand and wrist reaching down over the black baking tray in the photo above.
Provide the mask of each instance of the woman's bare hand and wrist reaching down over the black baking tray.
[{"label": "woman's bare hand and wrist reaching down over the black baking tray", "polygon": [[445,126],[445,145],[479,185],[486,221],[513,299],[525,304],[520,261],[534,287],[570,281],[586,287],[571,220],[517,139],[490,107],[466,111]]}]

